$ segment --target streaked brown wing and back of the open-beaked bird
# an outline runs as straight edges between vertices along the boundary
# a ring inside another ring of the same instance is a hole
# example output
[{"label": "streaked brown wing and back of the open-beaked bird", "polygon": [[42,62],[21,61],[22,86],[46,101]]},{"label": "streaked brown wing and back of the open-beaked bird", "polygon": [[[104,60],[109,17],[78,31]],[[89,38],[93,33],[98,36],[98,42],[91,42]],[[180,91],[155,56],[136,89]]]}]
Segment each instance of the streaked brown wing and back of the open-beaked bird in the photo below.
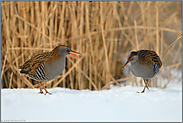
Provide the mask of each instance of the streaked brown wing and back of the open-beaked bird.
[{"label": "streaked brown wing and back of the open-beaked bird", "polygon": [[38,67],[40,67],[42,64],[44,64],[45,61],[49,60],[49,53],[41,53],[34,57],[32,57],[30,60],[24,63],[24,65],[20,66],[20,73],[23,74],[36,74],[36,70]]}]

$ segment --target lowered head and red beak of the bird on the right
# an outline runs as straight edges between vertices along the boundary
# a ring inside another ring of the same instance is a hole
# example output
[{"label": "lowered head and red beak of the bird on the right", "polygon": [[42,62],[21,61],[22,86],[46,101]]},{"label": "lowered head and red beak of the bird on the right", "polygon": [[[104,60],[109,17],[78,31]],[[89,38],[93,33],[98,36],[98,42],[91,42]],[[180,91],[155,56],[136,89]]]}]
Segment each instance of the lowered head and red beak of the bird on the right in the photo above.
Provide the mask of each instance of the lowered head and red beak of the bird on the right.
[{"label": "lowered head and red beak of the bird on the right", "polygon": [[133,64],[133,63],[135,63],[137,60],[138,60],[138,54],[137,54],[137,52],[136,52],[136,51],[132,51],[132,52],[130,53],[130,55],[128,56],[128,60],[127,60],[127,62],[125,63],[125,65],[123,66],[123,68],[124,68],[128,63]]}]

